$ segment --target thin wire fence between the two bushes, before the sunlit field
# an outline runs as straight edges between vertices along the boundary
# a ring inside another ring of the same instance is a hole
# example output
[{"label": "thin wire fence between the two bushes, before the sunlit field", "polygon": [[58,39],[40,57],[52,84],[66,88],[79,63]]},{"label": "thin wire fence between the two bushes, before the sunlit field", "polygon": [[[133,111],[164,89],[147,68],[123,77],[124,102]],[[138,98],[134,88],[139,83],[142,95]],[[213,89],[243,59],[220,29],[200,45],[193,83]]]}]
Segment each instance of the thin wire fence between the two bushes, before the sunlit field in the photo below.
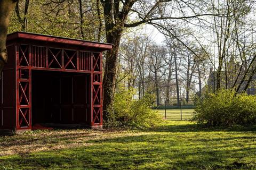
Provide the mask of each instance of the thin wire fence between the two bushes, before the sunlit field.
[{"label": "thin wire fence between the two bushes, before the sunlit field", "polygon": [[165,120],[191,120],[194,115],[195,100],[185,100],[183,98],[178,100],[175,98],[155,101],[154,104],[153,109],[156,109]]}]

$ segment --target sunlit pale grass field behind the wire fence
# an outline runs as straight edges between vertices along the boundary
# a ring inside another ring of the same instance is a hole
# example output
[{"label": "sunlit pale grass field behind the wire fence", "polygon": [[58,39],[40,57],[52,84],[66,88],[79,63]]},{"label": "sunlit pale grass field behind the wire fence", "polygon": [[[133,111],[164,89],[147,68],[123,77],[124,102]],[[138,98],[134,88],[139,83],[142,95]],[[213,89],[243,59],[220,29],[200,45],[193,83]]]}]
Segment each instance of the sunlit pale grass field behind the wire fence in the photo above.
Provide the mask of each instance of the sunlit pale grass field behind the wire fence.
[{"label": "sunlit pale grass field behind the wire fence", "polygon": [[[164,109],[157,109],[158,113],[165,117]],[[182,120],[190,120],[193,117],[194,109],[182,108]],[[181,120],[180,109],[166,109],[166,120]]]}]

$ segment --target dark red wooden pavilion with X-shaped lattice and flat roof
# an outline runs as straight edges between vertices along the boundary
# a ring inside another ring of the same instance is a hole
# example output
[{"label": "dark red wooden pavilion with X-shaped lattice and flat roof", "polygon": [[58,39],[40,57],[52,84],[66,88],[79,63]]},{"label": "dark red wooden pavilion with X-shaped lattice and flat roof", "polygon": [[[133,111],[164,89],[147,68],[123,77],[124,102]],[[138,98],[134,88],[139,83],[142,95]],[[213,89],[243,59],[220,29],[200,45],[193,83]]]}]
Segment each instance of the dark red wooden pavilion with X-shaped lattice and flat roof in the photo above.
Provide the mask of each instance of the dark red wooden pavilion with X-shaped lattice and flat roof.
[{"label": "dark red wooden pavilion with X-shaped lattice and flat roof", "polygon": [[102,128],[102,52],[111,44],[14,32],[0,81],[0,131],[36,123]]}]

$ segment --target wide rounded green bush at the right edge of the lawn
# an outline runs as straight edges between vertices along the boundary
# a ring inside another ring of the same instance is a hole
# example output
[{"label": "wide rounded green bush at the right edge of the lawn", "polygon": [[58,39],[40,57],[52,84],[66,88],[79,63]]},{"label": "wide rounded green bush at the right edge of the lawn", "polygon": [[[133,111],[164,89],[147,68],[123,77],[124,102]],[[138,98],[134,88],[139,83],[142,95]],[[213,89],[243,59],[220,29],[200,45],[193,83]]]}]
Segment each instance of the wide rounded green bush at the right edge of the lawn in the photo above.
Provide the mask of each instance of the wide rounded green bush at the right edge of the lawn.
[{"label": "wide rounded green bush at the right edge of the lawn", "polygon": [[235,95],[234,90],[220,90],[197,100],[193,120],[209,126],[248,125],[256,123],[256,96]]}]

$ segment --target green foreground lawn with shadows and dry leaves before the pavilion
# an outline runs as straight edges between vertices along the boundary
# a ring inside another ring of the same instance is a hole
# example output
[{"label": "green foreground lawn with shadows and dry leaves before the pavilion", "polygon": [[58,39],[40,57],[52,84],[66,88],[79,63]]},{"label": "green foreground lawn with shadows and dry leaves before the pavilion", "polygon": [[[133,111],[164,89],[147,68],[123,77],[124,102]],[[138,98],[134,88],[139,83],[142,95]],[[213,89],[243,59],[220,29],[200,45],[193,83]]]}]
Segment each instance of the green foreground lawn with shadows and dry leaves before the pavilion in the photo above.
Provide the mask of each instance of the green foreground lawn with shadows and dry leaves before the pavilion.
[{"label": "green foreground lawn with shadows and dry leaves before the pavilion", "polygon": [[35,131],[0,137],[0,169],[256,169],[256,126]]}]

